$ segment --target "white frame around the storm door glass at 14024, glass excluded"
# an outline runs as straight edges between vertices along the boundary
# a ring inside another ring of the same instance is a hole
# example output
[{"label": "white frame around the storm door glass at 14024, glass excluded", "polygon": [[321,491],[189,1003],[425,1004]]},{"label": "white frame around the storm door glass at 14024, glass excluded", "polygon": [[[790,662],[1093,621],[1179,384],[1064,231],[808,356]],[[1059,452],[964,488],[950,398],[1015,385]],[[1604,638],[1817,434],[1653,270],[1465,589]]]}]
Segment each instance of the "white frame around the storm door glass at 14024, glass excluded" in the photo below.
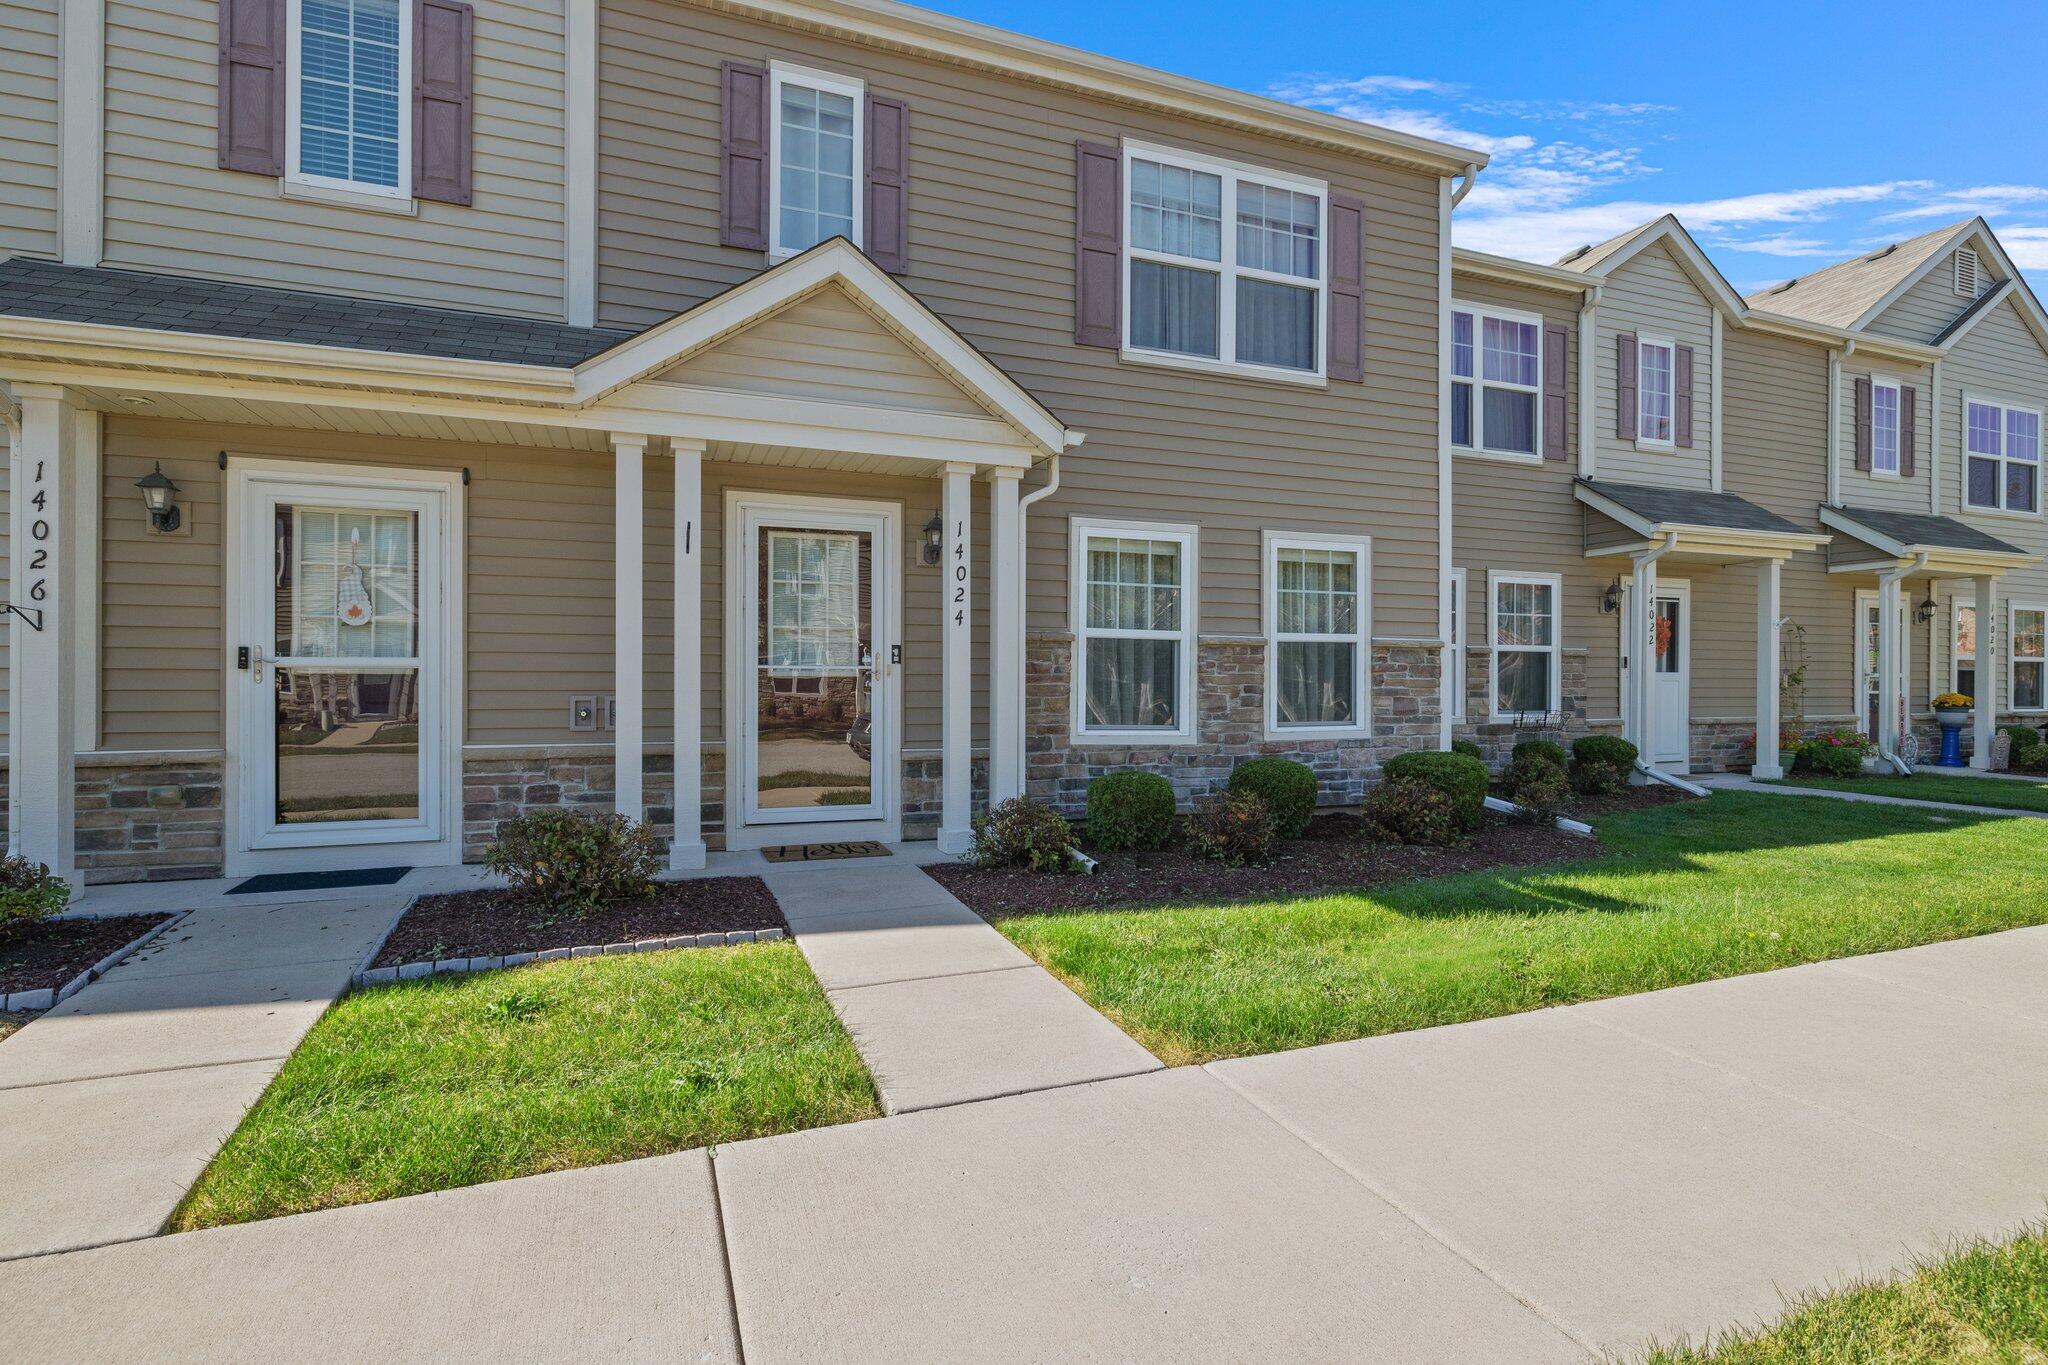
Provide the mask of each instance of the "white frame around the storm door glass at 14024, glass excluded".
[{"label": "white frame around the storm door glass at 14024, glass excluded", "polygon": [[[756,555],[764,524],[807,530],[864,530],[874,591],[872,729],[868,731],[879,819],[836,821],[829,806],[811,819],[750,821],[756,782],[758,708],[754,696],[754,630],[758,602]],[[760,849],[778,843],[903,837],[903,667],[893,647],[903,641],[903,503],[809,493],[725,491],[725,847]]]}]

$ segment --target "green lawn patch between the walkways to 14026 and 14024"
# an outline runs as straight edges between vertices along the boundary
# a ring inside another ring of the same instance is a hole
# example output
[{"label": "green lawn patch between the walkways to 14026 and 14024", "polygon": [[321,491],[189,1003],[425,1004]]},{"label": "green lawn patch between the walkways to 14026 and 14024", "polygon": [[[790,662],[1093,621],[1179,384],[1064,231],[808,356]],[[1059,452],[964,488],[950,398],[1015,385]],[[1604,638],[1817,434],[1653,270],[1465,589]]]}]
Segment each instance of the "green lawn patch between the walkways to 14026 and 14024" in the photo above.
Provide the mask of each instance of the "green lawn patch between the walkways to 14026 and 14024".
[{"label": "green lawn patch between the walkways to 14026 and 14024", "polygon": [[313,1025],[176,1230],[881,1113],[793,943],[358,990]]}]

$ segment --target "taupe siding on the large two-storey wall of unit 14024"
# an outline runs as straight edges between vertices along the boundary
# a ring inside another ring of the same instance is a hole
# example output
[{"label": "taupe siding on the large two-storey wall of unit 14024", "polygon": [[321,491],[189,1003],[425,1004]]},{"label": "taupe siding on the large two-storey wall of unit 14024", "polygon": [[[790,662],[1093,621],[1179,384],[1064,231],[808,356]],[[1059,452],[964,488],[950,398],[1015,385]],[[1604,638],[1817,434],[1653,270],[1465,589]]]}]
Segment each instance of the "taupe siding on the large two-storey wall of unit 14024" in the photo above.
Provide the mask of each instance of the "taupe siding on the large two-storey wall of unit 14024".
[{"label": "taupe siding on the large two-storey wall of unit 14024", "polygon": [[[1067,518],[1200,526],[1200,630],[1260,632],[1260,532],[1374,536],[1374,630],[1436,639],[1438,180],[668,0],[602,12],[600,321],[764,266],[717,246],[719,61],[788,59],[909,104],[905,287],[1087,444],[1030,516],[1028,618],[1067,628]],[[1126,364],[1073,344],[1073,141],[1133,137],[1366,201],[1364,385]],[[1036,483],[1034,477],[1030,483]]]}]

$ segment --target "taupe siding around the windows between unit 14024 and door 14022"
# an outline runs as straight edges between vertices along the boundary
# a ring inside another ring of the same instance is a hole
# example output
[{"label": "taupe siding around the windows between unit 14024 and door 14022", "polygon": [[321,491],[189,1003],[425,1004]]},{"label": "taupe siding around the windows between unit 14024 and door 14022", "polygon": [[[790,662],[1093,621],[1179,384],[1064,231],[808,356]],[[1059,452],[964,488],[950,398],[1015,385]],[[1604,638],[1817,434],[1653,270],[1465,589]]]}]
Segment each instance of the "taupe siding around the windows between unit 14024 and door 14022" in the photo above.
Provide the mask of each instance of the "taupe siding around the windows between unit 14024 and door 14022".
[{"label": "taupe siding around the windows between unit 14024 and door 14022", "polygon": [[[1548,291],[1456,276],[1452,293],[1464,303],[1491,303],[1542,315],[1546,325],[1571,332],[1567,364],[1567,438],[1573,458],[1520,465],[1475,454],[1454,460],[1452,559],[1464,569],[1466,591],[1466,714],[1462,724],[1487,724],[1491,698],[1489,575],[1563,575],[1563,645],[1567,657],[1585,655],[1585,716],[1620,716],[1620,651],[1616,618],[1599,610],[1599,593],[1614,579],[1614,563],[1585,557],[1581,505],[1571,485],[1577,463],[1579,422],[1579,307],[1577,299]],[[1604,524],[1606,518],[1591,518]],[[1475,694],[1477,690],[1477,694]]]}]

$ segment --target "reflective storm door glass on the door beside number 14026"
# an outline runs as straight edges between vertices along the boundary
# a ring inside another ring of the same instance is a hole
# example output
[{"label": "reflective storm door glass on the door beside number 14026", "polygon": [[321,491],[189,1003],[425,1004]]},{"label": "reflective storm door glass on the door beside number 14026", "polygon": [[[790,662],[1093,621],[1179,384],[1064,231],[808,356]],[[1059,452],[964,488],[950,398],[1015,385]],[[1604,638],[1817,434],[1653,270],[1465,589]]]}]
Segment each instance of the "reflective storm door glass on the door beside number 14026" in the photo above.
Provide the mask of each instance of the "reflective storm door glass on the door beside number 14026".
[{"label": "reflective storm door glass on the door beside number 14026", "polygon": [[276,510],[276,819],[420,819],[420,520]]}]

